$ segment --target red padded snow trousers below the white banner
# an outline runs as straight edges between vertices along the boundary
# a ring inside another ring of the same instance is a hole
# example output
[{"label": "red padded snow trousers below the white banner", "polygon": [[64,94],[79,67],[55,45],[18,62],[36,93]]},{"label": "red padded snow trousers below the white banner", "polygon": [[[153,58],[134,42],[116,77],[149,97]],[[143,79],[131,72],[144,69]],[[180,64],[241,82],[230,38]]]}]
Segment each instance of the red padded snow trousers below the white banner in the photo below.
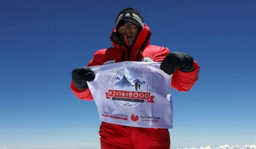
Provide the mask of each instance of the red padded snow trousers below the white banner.
[{"label": "red padded snow trousers below the white banner", "polygon": [[101,149],[170,149],[168,129],[141,128],[102,122]]}]

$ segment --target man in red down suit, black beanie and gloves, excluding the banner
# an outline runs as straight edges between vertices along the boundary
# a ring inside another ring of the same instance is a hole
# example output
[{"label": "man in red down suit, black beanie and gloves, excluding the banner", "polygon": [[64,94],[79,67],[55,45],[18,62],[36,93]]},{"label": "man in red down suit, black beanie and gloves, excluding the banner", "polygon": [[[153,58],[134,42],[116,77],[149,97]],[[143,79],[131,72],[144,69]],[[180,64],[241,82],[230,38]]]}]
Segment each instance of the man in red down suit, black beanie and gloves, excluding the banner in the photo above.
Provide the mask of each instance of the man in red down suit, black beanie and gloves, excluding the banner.
[{"label": "man in red down suit, black beanie and gloves, excluding the banner", "polygon": [[[168,48],[150,45],[150,29],[143,17],[134,8],[122,10],[116,18],[116,27],[111,34],[114,47],[95,52],[87,66],[98,66],[123,61],[162,62],[160,69],[172,75],[171,86],[179,91],[188,91],[198,78],[199,66],[185,53],[169,52]],[[90,69],[72,71],[71,89],[80,99],[93,97],[87,85],[95,74]],[[164,128],[131,127],[102,122],[100,125],[102,149],[169,149],[170,135]]]}]

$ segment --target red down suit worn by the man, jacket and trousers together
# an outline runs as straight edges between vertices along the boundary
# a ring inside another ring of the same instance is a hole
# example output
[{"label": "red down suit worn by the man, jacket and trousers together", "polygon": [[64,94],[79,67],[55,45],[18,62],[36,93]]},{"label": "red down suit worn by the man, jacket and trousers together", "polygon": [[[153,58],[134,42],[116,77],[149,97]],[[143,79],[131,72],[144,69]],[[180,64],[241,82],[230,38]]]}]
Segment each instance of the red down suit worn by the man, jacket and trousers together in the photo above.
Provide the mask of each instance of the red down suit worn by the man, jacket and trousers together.
[{"label": "red down suit worn by the man, jacket and trousers together", "polygon": [[[103,65],[105,62],[112,60],[115,60],[115,63],[122,61],[141,61],[145,57],[149,57],[155,62],[162,62],[170,52],[168,48],[149,44],[152,33],[145,24],[144,30],[140,31],[130,50],[125,45],[120,44],[115,34],[114,29],[110,37],[114,47],[95,52],[87,66]],[[178,91],[189,91],[198,78],[198,72],[199,66],[195,61],[192,72],[184,73],[179,69],[176,70],[172,76],[171,86]],[[79,90],[74,86],[73,81],[71,82],[71,89],[79,99],[87,101],[93,99],[88,88]],[[102,122],[99,134],[101,136],[102,149],[170,148],[168,129],[129,127]]]}]

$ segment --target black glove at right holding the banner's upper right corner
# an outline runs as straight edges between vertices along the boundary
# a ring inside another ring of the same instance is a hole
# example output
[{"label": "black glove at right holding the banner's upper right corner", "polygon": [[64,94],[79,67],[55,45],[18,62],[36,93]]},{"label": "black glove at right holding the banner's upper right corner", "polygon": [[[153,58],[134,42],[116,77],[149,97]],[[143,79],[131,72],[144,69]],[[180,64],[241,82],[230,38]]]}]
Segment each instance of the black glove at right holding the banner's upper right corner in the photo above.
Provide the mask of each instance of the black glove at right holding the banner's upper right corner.
[{"label": "black glove at right holding the banner's upper right corner", "polygon": [[191,72],[194,69],[193,64],[194,60],[190,55],[181,52],[171,52],[163,60],[160,69],[166,74],[172,75],[177,69],[180,69],[182,72]]}]

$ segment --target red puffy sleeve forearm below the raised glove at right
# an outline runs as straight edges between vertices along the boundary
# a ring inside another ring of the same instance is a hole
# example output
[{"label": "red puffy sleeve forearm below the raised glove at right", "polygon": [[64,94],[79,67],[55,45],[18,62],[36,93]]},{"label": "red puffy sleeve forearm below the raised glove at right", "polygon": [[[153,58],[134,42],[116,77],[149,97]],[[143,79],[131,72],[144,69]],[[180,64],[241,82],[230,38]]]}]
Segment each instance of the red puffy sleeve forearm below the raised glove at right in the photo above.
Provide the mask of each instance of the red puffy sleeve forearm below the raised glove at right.
[{"label": "red puffy sleeve forearm below the raised glove at right", "polygon": [[171,81],[171,86],[178,91],[189,91],[198,79],[199,65],[194,61],[194,70],[184,73],[177,69]]}]

